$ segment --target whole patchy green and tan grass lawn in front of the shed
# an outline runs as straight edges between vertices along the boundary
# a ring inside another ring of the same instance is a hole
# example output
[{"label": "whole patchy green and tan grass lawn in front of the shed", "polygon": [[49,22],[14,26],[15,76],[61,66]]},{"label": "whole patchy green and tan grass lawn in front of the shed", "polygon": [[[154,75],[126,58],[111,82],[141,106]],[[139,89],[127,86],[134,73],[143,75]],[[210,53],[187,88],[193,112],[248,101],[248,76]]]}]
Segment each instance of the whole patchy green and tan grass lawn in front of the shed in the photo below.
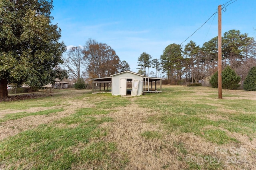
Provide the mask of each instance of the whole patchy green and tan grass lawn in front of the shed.
[{"label": "whole patchy green and tan grass lawn in front of the shed", "polygon": [[256,169],[256,92],[58,90],[0,102],[1,169]]}]

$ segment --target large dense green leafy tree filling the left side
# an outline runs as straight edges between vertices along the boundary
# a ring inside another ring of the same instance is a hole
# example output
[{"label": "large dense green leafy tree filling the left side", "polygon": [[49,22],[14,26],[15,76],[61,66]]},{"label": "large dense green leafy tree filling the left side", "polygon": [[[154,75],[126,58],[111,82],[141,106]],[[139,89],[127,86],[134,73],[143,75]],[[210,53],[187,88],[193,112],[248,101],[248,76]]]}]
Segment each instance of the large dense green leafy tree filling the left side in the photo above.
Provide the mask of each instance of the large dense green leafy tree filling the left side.
[{"label": "large dense green leafy tree filling the left side", "polygon": [[52,0],[0,1],[0,98],[8,83],[43,86],[63,75],[56,66],[66,49],[52,9]]}]

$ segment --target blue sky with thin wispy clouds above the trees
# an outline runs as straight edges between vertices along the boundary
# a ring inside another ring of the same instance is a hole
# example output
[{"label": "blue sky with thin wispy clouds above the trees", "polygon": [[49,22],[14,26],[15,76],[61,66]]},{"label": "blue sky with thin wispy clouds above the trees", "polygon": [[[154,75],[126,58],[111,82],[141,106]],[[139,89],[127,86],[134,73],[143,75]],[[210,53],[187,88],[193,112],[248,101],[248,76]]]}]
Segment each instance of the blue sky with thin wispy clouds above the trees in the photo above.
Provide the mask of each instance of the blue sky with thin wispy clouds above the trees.
[{"label": "blue sky with thin wispy clouds above the trees", "polygon": [[[62,29],[67,47],[91,38],[114,49],[137,72],[143,52],[160,59],[171,43],[180,44],[198,29],[218,5],[229,0],[54,0],[53,23]],[[232,4],[230,4],[233,2]],[[256,0],[232,0],[222,10],[222,35],[230,29],[256,38]],[[190,40],[202,47],[218,35],[218,14]]]}]

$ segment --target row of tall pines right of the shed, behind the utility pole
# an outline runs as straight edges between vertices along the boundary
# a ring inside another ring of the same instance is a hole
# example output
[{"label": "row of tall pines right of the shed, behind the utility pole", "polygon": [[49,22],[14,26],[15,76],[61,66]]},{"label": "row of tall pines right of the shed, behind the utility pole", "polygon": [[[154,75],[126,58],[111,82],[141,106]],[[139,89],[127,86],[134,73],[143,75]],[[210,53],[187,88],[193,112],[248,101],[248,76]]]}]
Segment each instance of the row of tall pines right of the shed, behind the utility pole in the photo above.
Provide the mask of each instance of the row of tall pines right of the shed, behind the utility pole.
[{"label": "row of tall pines right of the shed, behind the utility pole", "polygon": [[[146,75],[146,68],[156,68],[166,75],[170,84],[198,82],[212,76],[218,67],[218,37],[205,42],[202,47],[190,41],[184,47],[170,44],[160,59],[152,59],[147,53],[138,58],[139,72]],[[248,71],[256,66],[256,41],[247,33],[232,29],[222,37],[222,68],[230,66],[241,77],[242,82]],[[148,73],[147,73],[148,75]]]}]

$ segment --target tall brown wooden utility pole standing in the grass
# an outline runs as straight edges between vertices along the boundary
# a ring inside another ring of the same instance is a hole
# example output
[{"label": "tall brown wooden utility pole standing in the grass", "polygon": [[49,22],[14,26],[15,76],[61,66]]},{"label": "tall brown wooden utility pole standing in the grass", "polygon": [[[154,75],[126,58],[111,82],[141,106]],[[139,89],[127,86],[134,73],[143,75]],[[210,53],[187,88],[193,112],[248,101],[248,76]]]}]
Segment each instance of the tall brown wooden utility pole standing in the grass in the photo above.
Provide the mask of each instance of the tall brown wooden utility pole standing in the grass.
[{"label": "tall brown wooden utility pole standing in the grass", "polygon": [[222,99],[221,64],[222,64],[222,51],[221,51],[221,5],[219,5],[218,6],[218,90],[219,90],[219,99]]}]

